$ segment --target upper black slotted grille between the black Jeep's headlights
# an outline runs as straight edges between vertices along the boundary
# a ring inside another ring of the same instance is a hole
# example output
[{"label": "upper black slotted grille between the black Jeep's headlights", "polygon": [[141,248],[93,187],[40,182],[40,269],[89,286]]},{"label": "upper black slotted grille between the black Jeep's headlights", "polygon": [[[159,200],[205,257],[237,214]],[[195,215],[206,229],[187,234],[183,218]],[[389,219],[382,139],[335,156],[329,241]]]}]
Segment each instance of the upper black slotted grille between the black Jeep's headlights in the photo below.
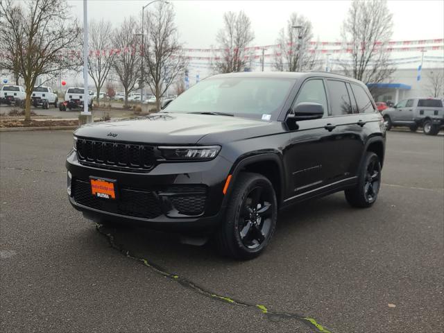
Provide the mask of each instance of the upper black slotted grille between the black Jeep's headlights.
[{"label": "upper black slotted grille between the black Jeep's headlights", "polygon": [[93,139],[77,139],[77,158],[82,164],[103,169],[146,172],[154,167],[153,146]]}]

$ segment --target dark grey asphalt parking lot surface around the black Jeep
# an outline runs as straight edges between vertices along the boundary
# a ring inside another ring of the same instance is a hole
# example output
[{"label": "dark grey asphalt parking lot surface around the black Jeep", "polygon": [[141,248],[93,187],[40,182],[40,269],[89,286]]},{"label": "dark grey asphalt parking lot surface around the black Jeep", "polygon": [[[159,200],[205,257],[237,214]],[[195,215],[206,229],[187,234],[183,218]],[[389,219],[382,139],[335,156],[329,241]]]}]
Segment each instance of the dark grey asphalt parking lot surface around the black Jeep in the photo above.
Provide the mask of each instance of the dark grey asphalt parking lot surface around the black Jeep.
[{"label": "dark grey asphalt parking lot surface around the black Jeep", "polygon": [[100,229],[67,200],[69,131],[0,133],[1,332],[443,332],[444,138],[388,133],[375,205],[280,214],[259,258]]}]

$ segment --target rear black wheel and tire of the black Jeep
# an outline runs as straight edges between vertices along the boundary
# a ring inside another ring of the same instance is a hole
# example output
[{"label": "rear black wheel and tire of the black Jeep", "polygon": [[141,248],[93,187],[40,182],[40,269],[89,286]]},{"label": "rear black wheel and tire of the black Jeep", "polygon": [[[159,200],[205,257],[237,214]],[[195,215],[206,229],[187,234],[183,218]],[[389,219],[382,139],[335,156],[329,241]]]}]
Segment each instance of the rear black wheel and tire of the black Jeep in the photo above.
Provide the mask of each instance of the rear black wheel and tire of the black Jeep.
[{"label": "rear black wheel and tire of the black Jeep", "polygon": [[352,207],[370,207],[375,203],[380,187],[381,163],[375,153],[368,151],[359,170],[357,185],[344,191],[345,199]]}]

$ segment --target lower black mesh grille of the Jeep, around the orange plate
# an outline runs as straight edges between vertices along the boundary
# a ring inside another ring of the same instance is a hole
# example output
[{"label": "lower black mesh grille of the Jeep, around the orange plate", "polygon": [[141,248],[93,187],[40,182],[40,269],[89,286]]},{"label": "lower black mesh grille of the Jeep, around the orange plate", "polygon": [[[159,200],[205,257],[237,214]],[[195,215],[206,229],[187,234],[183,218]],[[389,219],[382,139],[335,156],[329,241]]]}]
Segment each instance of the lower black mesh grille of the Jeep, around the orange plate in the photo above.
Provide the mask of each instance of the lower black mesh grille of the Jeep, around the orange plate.
[{"label": "lower black mesh grille of the Jeep, around the orange plate", "polygon": [[89,182],[75,179],[71,193],[76,203],[103,212],[142,219],[153,219],[162,214],[160,202],[153,191],[121,188],[117,200],[105,200],[91,194]]}]

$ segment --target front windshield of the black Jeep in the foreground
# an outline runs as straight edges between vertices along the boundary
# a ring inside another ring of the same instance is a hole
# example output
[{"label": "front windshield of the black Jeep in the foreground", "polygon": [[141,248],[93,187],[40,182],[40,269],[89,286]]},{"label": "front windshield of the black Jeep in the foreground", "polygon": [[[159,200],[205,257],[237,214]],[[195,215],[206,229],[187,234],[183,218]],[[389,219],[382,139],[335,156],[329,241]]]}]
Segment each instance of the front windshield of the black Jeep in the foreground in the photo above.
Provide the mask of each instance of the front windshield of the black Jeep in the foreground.
[{"label": "front windshield of the black Jeep in the foreground", "polygon": [[164,111],[261,117],[282,108],[293,83],[286,78],[209,78],[178,96]]}]

